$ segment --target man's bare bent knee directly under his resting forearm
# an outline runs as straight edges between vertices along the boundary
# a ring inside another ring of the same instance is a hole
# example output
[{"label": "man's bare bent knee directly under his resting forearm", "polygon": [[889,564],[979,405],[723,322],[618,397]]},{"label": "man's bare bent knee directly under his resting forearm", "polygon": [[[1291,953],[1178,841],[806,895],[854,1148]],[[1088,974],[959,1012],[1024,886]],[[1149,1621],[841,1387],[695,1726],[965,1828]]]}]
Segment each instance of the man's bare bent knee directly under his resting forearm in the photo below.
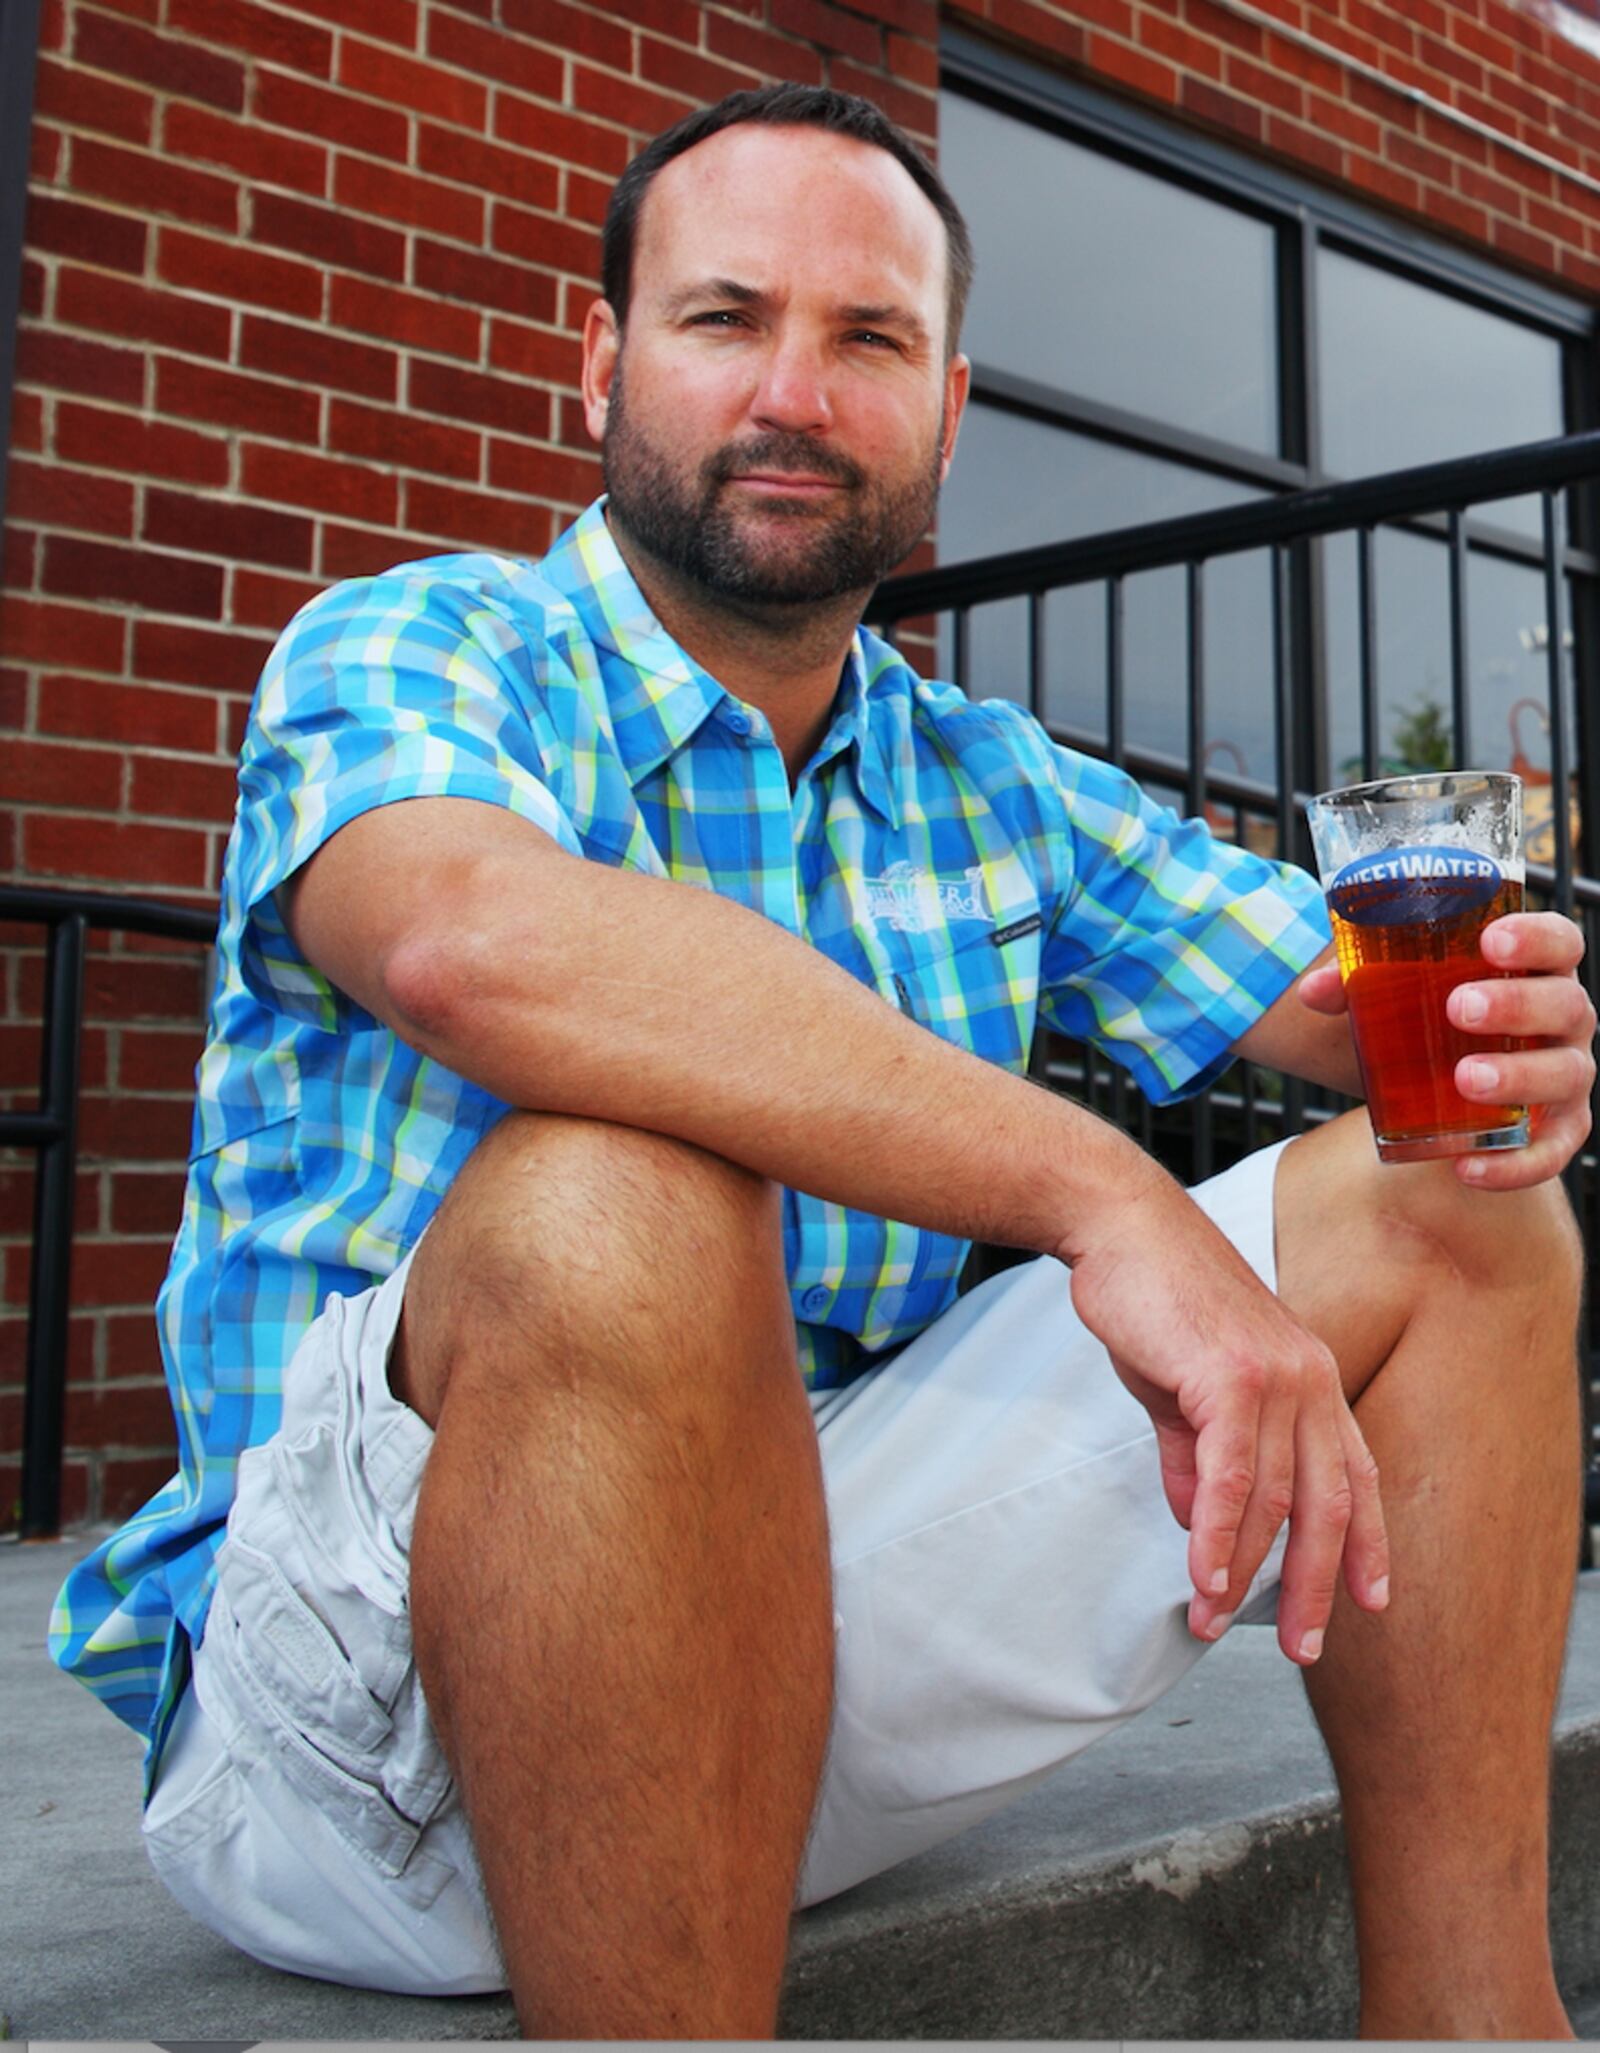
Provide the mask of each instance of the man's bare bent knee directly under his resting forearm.
[{"label": "man's bare bent knee directly under his resting forearm", "polygon": [[762,1318],[787,1320],[776,1185],[639,1127],[509,1113],[417,1248],[392,1382],[435,1421],[464,1355],[612,1353],[647,1382],[676,1334]]}]

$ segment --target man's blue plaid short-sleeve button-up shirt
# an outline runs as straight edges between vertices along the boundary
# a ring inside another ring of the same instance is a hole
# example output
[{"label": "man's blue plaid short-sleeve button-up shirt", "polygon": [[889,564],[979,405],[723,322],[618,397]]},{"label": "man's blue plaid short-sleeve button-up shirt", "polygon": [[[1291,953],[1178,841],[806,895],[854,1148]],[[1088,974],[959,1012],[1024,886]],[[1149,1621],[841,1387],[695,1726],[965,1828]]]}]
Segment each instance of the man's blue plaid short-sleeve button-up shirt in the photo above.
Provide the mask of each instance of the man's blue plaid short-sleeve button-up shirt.
[{"label": "man's blue plaid short-sleeve button-up shirt", "polygon": [[[1002,1068],[1027,1068],[1043,1018],[1156,1100],[1218,1076],[1327,942],[1300,870],[1212,840],[1023,708],[924,682],[865,630],[791,788],[762,712],[651,614],[604,501],[540,565],[440,556],[322,593],[267,663],[238,770],[158,1302],[181,1468],[72,1573],[51,1630],[62,1667],[150,1735],[152,1766],[236,1460],[273,1433],[290,1355],[333,1293],[415,1246],[507,1111],[335,990],[279,916],[277,887],[339,827],[429,797],[735,899]],[[801,1365],[830,1388],[951,1304],[965,1242],[791,1191],[785,1252]]]}]

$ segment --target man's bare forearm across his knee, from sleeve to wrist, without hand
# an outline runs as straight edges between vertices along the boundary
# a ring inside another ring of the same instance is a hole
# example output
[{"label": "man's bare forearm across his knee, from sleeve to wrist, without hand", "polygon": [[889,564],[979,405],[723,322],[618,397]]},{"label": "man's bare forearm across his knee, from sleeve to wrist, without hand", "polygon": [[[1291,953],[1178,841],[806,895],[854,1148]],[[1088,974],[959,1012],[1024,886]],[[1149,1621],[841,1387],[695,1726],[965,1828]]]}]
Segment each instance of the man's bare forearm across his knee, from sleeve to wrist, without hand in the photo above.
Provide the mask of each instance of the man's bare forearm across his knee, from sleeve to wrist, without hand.
[{"label": "man's bare forearm across his knee, from sleeve to wrist, without hand", "polygon": [[[413,815],[415,844],[437,805],[384,811]],[[941,1041],[770,920],[542,838],[530,850],[534,829],[468,811],[497,831],[431,850],[405,918],[364,932],[372,883],[349,844],[327,860],[343,829],[292,926],[335,983],[507,1102],[672,1133],[863,1211],[1064,1256],[1080,1222],[1103,1230],[1167,1183],[1126,1135]]]}]

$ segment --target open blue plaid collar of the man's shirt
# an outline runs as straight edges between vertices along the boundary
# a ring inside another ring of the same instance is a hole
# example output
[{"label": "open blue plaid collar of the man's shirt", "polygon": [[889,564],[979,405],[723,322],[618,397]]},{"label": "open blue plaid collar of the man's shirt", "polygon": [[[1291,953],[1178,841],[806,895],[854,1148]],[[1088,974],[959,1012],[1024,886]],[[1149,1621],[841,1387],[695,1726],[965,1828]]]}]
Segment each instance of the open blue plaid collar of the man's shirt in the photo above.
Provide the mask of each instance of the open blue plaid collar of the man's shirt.
[{"label": "open blue plaid collar of the man's shirt", "polygon": [[[651,612],[606,526],[604,497],[555,542],[540,575],[571,599],[596,647],[620,659],[602,665],[606,696],[628,782],[639,786],[694,737],[731,692]],[[873,706],[879,696],[875,688],[898,682],[896,673],[906,673],[900,655],[856,628],[834,716],[815,756],[826,762],[852,749],[861,797],[891,827],[900,825],[900,807],[889,774],[887,708],[879,708],[879,719],[873,719]]]}]

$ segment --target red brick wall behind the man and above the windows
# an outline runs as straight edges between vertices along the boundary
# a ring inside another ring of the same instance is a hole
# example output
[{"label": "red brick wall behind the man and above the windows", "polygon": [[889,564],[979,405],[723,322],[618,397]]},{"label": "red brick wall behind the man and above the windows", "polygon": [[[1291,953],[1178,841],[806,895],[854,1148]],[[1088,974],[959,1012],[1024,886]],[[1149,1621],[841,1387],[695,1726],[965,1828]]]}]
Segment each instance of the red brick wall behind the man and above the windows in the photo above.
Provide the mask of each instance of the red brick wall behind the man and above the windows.
[{"label": "red brick wall behind the man and above the windows", "polygon": [[[957,0],[945,18],[1577,289],[1600,64],[1503,0]],[[935,125],[935,0],[45,0],[0,569],[0,877],[209,901],[261,657],[322,583],[540,550],[598,482],[573,378],[606,191],[768,78]],[[1370,66],[1370,80],[1343,57]],[[39,961],[0,951],[0,1102]],[[170,1462],[150,1297],[197,1049],[191,955],[92,965],[68,1515]],[[31,1174],[0,1162],[0,1523]]]}]

